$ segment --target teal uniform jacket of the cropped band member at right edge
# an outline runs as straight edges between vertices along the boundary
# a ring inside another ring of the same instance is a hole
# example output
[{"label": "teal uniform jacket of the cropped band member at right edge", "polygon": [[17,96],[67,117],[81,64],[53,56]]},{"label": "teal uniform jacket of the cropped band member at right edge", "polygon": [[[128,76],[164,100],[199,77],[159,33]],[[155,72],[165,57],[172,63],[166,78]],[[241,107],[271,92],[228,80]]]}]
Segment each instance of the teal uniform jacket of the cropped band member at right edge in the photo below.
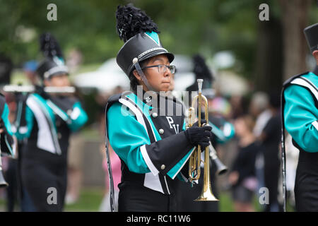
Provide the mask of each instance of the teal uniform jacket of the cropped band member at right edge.
[{"label": "teal uniform jacket of the cropped band member at right edge", "polygon": [[313,72],[294,76],[284,83],[283,119],[294,145],[318,152],[318,66]]}]

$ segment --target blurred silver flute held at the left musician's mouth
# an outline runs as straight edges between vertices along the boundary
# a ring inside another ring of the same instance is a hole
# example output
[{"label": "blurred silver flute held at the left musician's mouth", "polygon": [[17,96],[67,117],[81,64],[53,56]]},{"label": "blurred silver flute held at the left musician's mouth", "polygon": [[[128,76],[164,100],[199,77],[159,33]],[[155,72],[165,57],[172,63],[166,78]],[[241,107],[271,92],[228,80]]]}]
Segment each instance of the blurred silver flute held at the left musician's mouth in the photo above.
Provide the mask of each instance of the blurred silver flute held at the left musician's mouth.
[{"label": "blurred silver flute held at the left musician's mouth", "polygon": [[[45,93],[75,93],[73,86],[47,86],[44,88]],[[6,93],[33,93],[35,92],[34,85],[4,85],[4,92]]]}]

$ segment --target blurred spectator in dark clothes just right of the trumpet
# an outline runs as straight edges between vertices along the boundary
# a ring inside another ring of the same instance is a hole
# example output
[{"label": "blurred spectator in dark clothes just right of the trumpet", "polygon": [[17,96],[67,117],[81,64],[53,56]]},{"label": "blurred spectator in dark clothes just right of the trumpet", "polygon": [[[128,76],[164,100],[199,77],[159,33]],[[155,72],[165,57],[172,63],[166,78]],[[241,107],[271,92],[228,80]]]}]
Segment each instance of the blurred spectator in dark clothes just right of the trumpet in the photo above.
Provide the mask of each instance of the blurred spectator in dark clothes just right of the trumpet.
[{"label": "blurred spectator in dark clothes just right of the trumpet", "polygon": [[255,177],[256,139],[252,133],[254,121],[244,115],[235,120],[235,133],[239,138],[238,153],[232,163],[228,182],[232,185],[232,198],[237,212],[252,212],[252,200],[257,188]]}]

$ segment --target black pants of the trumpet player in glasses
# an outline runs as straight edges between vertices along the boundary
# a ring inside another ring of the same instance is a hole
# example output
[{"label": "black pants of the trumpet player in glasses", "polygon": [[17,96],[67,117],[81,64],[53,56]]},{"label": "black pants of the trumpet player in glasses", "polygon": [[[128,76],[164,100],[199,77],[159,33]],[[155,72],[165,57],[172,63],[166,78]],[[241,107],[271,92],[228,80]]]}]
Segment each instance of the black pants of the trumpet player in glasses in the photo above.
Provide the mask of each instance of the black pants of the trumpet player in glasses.
[{"label": "black pants of the trumpet player in glasses", "polygon": [[145,186],[119,184],[119,212],[173,212],[177,210],[175,194],[165,195]]}]

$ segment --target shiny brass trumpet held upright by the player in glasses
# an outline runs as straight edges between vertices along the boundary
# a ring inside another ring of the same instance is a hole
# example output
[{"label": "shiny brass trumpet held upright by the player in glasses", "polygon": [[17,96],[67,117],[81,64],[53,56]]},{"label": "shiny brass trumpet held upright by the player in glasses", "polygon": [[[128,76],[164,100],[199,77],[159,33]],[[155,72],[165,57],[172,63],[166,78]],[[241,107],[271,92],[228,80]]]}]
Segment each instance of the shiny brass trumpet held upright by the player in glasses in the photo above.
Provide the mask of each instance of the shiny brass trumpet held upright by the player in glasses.
[{"label": "shiny brass trumpet held upright by the player in glasses", "polygon": [[[208,123],[208,100],[204,95],[202,95],[202,84],[203,79],[198,79],[198,86],[199,86],[199,94],[196,95],[192,100],[192,107],[189,108],[189,121],[187,124],[187,128],[191,127],[194,124],[194,106],[196,105],[196,102],[198,102],[198,123],[199,127],[206,126],[206,124],[201,125],[201,105],[202,101],[204,101],[204,108],[205,108],[205,119]],[[212,189],[211,189],[211,178],[210,178],[210,160],[209,160],[209,147],[207,146],[205,148],[204,152],[204,183],[203,183],[203,189],[201,191],[201,194],[198,198],[196,198],[194,201],[218,201],[218,199],[213,195]],[[203,162],[203,161],[202,161]],[[201,146],[198,145],[192,155],[189,158],[189,181],[193,182],[194,180],[198,180],[200,178],[200,169],[201,165]]]}]

